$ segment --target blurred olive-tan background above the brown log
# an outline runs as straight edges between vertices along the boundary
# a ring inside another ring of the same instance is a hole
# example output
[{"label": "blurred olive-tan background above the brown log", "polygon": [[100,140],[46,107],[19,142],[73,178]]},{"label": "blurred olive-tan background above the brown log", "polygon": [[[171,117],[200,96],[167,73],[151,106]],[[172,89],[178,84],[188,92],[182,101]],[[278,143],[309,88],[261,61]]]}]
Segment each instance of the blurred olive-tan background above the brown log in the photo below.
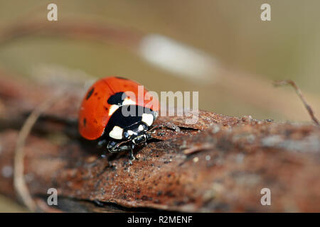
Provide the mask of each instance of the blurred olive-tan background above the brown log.
[{"label": "blurred olive-tan background above the brown log", "polygon": [[[49,3],[58,5],[58,21],[46,20]],[[263,3],[271,5],[272,21],[261,21]],[[319,11],[319,0],[1,0],[0,69],[31,81],[35,75],[53,77],[48,71],[73,78],[119,75],[156,92],[198,91],[199,108],[219,114],[310,121],[293,89],[274,88],[272,80],[293,79],[319,116]],[[28,21],[91,23],[142,38],[159,34],[218,63],[204,77],[178,74],[148,62],[141,43],[132,43],[130,37],[104,42],[36,33],[1,42],[7,29]],[[9,204],[0,198],[0,211],[20,211]]]}]

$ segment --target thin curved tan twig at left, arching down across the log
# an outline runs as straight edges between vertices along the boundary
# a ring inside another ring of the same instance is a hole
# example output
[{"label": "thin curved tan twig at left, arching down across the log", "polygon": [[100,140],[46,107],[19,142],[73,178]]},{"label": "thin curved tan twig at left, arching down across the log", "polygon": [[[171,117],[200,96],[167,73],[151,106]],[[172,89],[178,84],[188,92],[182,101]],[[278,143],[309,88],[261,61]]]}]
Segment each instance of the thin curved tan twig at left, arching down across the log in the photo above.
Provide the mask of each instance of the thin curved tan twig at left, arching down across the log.
[{"label": "thin curved tan twig at left, arching down across the log", "polygon": [[26,138],[28,137],[29,133],[31,132],[31,129],[33,128],[33,125],[36,123],[37,119],[41,114],[46,111],[46,109],[50,108],[55,101],[58,101],[58,99],[63,95],[63,92],[58,92],[51,98],[44,101],[42,104],[36,107],[34,109],[30,116],[26,119],[25,123],[23,124],[21,131],[18,134],[18,138],[16,141],[16,150],[14,155],[14,187],[16,189],[16,192],[18,193],[18,196],[23,201],[23,204],[25,204],[28,209],[31,211],[36,211],[36,202],[32,199],[31,194],[28,190],[28,187],[26,185],[26,182],[23,177],[24,172],[24,157],[25,153],[23,150],[24,144],[26,142]]}]

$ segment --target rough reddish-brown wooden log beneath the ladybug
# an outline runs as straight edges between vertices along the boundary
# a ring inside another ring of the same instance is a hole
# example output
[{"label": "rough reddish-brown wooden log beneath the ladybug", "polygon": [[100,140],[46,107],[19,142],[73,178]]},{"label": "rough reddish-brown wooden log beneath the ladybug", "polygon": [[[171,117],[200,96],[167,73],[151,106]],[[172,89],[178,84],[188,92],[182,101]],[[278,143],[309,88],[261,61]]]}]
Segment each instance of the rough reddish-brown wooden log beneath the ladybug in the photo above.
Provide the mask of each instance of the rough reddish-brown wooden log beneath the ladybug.
[{"label": "rough reddish-brown wooden log beneath the ladybug", "polygon": [[[18,131],[28,114],[60,87],[9,79],[0,73],[0,193],[13,184]],[[65,87],[63,88],[65,89]],[[320,211],[320,128],[199,111],[159,117],[154,140],[128,154],[100,157],[80,138],[77,114],[84,89],[68,88],[26,140],[24,179],[44,211]],[[58,206],[46,207],[49,188]],[[262,188],[271,206],[262,206]]]}]

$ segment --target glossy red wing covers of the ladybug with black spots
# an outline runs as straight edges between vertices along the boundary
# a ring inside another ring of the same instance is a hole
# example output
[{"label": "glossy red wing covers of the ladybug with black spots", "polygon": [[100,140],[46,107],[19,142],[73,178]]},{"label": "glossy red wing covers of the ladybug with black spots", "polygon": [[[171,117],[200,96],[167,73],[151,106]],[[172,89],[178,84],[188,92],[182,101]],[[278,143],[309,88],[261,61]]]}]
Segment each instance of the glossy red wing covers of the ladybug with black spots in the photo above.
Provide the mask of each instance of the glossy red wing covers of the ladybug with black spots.
[{"label": "glossy red wing covers of the ladybug with black spots", "polygon": [[[118,92],[124,92],[126,94],[133,92],[136,96],[136,100],[134,101],[137,105],[140,104],[138,102],[139,85],[141,86],[141,84],[137,82],[122,77],[105,77],[95,82],[95,84],[88,89],[80,106],[78,128],[82,137],[87,140],[95,140],[102,136],[111,117],[109,114],[111,105],[107,102],[110,96]],[[144,99],[143,106],[149,107],[153,111],[158,111],[159,101],[156,99],[153,100],[149,91],[144,88],[144,97],[145,96],[151,98]],[[151,101],[153,105],[150,106]]]}]

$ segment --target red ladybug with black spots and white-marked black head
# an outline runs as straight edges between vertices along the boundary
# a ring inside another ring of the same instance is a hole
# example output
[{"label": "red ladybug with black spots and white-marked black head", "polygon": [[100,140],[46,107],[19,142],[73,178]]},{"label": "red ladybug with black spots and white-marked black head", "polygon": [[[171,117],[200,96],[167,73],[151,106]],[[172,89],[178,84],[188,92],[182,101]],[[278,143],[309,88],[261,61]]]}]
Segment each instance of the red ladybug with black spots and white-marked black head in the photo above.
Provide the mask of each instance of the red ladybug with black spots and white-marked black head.
[{"label": "red ladybug with black spots and white-marked black head", "polygon": [[[130,164],[134,147],[152,138],[151,125],[159,109],[159,101],[139,86],[122,77],[99,79],[85,94],[78,118],[82,137],[98,140],[98,145],[106,145],[110,153],[129,150]],[[144,97],[139,97],[140,93]]]}]

